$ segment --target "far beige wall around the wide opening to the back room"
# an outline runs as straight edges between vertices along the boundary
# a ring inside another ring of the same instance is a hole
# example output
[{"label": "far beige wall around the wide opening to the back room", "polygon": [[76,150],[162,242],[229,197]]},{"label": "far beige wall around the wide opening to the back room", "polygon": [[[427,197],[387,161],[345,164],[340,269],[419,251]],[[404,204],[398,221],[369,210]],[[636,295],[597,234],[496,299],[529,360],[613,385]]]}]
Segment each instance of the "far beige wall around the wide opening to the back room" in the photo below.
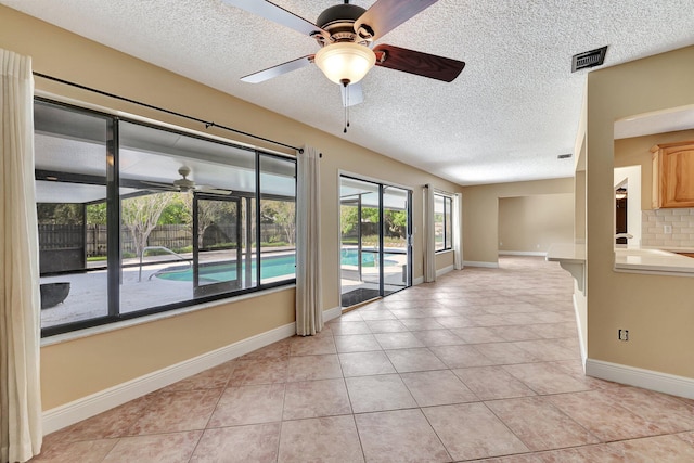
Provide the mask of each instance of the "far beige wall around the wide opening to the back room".
[{"label": "far beige wall around the wide opening to the back room", "polygon": [[[465,262],[499,262],[500,197],[548,194],[573,195],[574,179],[536,180],[463,188],[463,259]],[[573,206],[569,205],[569,207],[573,210]],[[573,211],[570,220],[573,223]]]}]

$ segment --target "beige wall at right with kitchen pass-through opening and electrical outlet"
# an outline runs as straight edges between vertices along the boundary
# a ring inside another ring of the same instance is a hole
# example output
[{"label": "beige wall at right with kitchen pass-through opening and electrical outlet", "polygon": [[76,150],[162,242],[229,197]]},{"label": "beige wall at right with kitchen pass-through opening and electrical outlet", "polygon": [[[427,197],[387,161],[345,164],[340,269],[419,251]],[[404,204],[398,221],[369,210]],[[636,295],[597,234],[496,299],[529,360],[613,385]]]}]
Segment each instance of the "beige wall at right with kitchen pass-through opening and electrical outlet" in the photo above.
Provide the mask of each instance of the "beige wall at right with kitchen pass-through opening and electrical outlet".
[{"label": "beige wall at right with kitchen pass-through opening and electrical outlet", "polygon": [[[588,356],[694,377],[694,280],[613,270],[614,123],[694,104],[694,47],[588,75]],[[648,178],[643,175],[643,178]],[[629,330],[629,342],[617,330]]]}]

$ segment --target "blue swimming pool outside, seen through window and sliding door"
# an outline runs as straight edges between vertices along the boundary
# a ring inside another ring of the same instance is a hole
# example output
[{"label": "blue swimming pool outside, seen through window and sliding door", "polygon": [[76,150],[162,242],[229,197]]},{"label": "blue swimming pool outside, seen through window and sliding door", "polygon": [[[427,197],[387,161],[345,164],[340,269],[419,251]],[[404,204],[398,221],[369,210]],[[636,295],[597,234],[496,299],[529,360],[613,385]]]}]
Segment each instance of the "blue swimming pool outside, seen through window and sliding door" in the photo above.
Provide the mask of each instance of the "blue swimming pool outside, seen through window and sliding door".
[{"label": "blue swimming pool outside, seen through window and sliding door", "polygon": [[[362,253],[361,265],[362,267],[375,267],[375,253]],[[393,257],[397,254],[384,253],[384,267],[394,267],[398,265],[397,260]],[[389,258],[388,258],[389,257]],[[280,276],[293,278],[296,272],[296,255],[287,254],[283,256],[264,256],[261,258],[262,265],[260,266],[260,279],[269,280]],[[355,266],[359,262],[359,253],[357,249],[343,249],[340,253],[340,263],[343,266]],[[245,272],[246,262],[243,261],[241,266],[242,274]],[[252,281],[256,278],[256,259],[250,261],[250,274]],[[180,267],[169,267],[159,270],[155,273],[156,278],[169,281],[193,281],[193,269],[181,269]],[[220,283],[226,281],[237,280],[236,263],[235,262],[218,262],[206,263],[200,267],[200,282],[205,283]]]}]

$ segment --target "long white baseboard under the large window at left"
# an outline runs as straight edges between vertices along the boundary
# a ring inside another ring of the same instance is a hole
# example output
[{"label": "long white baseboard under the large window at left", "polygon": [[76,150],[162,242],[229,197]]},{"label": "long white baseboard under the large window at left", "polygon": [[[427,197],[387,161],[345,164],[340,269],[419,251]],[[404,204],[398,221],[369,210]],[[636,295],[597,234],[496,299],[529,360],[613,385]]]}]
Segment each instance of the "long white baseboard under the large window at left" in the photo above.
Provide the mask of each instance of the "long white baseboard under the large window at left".
[{"label": "long white baseboard under the large window at left", "polygon": [[162,387],[296,334],[290,323],[43,412],[43,434],[98,415]]}]

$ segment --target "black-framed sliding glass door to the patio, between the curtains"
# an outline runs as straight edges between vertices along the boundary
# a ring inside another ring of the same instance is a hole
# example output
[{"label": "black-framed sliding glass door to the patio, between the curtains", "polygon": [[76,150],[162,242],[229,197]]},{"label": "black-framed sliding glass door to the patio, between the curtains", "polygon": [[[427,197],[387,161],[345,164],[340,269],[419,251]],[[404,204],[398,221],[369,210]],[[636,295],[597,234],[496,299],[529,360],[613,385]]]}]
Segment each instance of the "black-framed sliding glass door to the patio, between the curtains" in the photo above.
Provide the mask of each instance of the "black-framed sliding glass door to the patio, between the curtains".
[{"label": "black-framed sliding glass door to the patio, between the curtains", "polygon": [[342,306],[411,285],[411,192],[340,178]]}]

